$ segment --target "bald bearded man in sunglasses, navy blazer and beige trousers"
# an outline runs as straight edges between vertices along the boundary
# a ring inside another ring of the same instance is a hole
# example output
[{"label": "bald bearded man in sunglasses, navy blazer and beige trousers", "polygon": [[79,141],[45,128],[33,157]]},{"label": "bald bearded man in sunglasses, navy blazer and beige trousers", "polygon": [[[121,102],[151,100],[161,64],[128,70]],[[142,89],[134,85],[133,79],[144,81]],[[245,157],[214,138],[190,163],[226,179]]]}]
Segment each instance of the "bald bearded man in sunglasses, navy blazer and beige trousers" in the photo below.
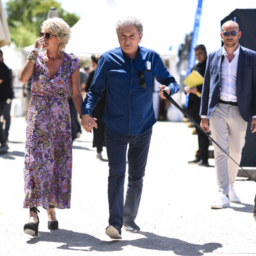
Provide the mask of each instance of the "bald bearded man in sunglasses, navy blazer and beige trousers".
[{"label": "bald bearded man in sunglasses, navy blazer and beige trousers", "polygon": [[[239,164],[247,122],[256,131],[256,52],[239,45],[241,31],[233,21],[222,25],[224,46],[211,52],[204,76],[200,126]],[[234,183],[238,166],[214,143],[219,197],[211,208],[240,203]],[[253,154],[253,153],[252,153]]]}]

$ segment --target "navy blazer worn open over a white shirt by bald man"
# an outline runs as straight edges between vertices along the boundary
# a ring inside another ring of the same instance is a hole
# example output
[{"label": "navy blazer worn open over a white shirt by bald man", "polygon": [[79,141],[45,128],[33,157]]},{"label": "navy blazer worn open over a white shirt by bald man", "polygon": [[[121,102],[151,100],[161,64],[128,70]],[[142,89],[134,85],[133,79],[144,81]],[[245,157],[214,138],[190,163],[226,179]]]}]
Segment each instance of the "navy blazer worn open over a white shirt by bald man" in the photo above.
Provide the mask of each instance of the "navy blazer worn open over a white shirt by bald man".
[{"label": "navy blazer worn open over a white shirt by bald man", "polygon": [[[221,66],[222,48],[209,53],[207,58],[200,115],[208,119],[220,99]],[[245,121],[249,122],[252,116],[256,116],[256,52],[242,46],[237,65],[237,104]]]}]

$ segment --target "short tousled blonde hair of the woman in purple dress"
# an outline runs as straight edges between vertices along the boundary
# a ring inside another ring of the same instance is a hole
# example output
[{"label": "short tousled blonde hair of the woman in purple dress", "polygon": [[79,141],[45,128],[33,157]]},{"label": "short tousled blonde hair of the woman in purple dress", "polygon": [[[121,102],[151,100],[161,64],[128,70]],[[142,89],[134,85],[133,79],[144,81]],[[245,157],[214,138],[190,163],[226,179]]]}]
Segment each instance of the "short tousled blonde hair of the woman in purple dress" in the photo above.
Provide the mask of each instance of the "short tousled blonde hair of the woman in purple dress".
[{"label": "short tousled blonde hair of the woman in purple dress", "polygon": [[47,32],[53,36],[56,36],[57,40],[60,41],[60,50],[65,49],[65,46],[68,44],[71,37],[71,30],[68,23],[66,23],[64,19],[58,17],[46,19],[41,24],[41,30],[45,30],[45,33]]}]

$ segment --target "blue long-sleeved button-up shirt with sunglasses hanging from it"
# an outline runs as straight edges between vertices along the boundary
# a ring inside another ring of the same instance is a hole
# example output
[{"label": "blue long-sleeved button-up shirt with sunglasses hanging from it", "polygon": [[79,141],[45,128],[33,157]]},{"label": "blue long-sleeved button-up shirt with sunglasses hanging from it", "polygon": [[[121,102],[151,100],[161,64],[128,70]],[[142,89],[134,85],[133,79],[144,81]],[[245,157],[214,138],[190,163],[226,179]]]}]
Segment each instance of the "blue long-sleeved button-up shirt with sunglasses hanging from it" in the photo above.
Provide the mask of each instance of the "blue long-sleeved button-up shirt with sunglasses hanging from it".
[{"label": "blue long-sleeved button-up shirt with sunglasses hanging from it", "polygon": [[[151,72],[144,72],[146,88],[143,88],[138,74],[147,70],[147,61],[151,62]],[[95,70],[94,83],[82,105],[82,115],[92,116],[92,110],[106,87],[107,101],[102,119],[105,127],[121,135],[140,135],[156,122],[152,100],[154,78],[168,86],[171,94],[178,92],[177,82],[153,50],[139,46],[135,59],[131,59],[120,47],[102,54]]]}]

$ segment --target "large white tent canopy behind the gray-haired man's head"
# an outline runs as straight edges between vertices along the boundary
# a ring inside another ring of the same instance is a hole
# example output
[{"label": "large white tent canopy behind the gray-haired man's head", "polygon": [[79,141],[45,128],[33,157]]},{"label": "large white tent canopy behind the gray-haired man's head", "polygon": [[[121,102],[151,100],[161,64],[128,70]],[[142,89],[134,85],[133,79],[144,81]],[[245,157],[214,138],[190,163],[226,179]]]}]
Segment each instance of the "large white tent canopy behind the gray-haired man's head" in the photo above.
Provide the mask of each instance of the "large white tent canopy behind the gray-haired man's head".
[{"label": "large white tent canopy behind the gray-haired man's head", "polygon": [[[110,1],[111,2],[111,1]],[[99,4],[101,8],[99,8]],[[135,9],[136,10],[136,9]],[[139,11],[139,10],[136,10]],[[138,13],[128,12],[129,15],[138,17],[143,23],[143,38],[140,45],[153,49],[162,55],[173,55],[169,51],[171,45],[170,34],[163,33],[163,23],[149,19],[147,13],[139,11]],[[116,22],[127,12],[122,5],[109,4],[109,1],[87,1],[87,11],[83,13],[82,18],[72,26],[72,38],[66,46],[65,52],[73,53],[80,58],[90,57],[91,54],[101,54],[119,46],[117,34],[115,31]],[[168,24],[165,24],[168,26]],[[165,35],[163,37],[163,35]],[[29,53],[33,46],[25,48]],[[176,53],[175,53],[176,54]]]}]

